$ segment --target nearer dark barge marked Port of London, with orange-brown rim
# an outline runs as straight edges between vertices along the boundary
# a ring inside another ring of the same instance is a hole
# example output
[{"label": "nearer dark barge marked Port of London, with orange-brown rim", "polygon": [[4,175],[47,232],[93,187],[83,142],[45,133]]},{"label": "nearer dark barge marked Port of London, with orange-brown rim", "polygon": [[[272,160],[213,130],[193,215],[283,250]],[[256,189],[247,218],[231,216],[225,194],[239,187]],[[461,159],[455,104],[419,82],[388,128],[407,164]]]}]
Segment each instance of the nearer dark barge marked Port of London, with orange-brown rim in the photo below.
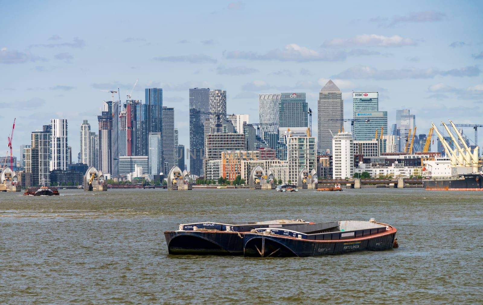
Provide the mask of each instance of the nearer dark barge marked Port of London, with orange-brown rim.
[{"label": "nearer dark barge marked Port of London, with orange-brown rim", "polygon": [[396,228],[385,223],[343,220],[290,228],[258,228],[243,235],[244,255],[291,257],[392,249]]}]

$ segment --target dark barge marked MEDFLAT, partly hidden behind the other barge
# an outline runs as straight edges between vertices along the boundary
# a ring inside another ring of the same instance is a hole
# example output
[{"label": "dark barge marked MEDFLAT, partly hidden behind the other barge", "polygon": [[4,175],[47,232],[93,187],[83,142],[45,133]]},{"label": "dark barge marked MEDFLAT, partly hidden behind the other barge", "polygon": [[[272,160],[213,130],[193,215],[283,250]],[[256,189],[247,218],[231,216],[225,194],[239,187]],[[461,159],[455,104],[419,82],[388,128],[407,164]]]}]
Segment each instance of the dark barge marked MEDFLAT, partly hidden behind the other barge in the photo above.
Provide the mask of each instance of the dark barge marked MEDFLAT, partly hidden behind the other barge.
[{"label": "dark barge marked MEDFLAT, partly hidden behind the other barge", "polygon": [[257,228],[282,228],[309,224],[302,219],[257,222],[180,224],[177,231],[164,236],[170,254],[243,255],[243,234]]}]

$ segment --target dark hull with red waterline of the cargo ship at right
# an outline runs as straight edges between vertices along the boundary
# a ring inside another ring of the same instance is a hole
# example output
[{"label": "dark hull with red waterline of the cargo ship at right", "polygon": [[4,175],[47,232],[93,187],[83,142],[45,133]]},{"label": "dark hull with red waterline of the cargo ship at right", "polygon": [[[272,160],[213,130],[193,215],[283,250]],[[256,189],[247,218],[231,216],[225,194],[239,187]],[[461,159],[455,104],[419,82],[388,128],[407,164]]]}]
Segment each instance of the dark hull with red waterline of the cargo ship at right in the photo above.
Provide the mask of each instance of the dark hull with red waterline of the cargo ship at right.
[{"label": "dark hull with red waterline of the cargo ship at right", "polygon": [[465,174],[454,179],[423,179],[426,190],[482,190],[483,174]]}]

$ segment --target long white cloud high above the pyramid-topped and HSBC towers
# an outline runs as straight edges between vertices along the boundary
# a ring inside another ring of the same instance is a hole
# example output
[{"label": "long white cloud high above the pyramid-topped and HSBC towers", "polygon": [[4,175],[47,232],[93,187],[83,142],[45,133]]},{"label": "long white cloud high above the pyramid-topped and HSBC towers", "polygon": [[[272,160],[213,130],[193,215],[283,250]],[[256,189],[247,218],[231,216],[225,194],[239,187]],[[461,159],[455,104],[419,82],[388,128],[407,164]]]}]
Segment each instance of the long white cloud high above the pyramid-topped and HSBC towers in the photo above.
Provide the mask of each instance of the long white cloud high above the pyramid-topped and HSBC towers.
[{"label": "long white cloud high above the pyramid-topped and HSBC towers", "polygon": [[411,38],[403,38],[399,35],[384,36],[384,35],[376,35],[376,34],[370,34],[370,35],[363,34],[363,35],[357,35],[349,39],[341,39],[341,38],[331,39],[331,40],[325,41],[322,44],[322,47],[332,47],[332,48],[355,47],[355,46],[400,47],[400,46],[408,46],[408,45],[417,45],[417,42]]}]

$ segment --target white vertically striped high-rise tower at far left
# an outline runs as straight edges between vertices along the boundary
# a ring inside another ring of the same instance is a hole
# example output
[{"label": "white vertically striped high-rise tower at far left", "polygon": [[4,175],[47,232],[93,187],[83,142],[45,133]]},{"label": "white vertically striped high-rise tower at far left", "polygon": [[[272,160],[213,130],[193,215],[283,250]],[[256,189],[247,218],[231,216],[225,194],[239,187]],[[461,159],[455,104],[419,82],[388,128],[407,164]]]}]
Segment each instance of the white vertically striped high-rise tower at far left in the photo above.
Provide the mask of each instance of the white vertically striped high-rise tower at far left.
[{"label": "white vertically striped high-rise tower at far left", "polygon": [[67,120],[55,118],[50,120],[51,125],[51,160],[50,171],[68,169],[68,143]]}]

